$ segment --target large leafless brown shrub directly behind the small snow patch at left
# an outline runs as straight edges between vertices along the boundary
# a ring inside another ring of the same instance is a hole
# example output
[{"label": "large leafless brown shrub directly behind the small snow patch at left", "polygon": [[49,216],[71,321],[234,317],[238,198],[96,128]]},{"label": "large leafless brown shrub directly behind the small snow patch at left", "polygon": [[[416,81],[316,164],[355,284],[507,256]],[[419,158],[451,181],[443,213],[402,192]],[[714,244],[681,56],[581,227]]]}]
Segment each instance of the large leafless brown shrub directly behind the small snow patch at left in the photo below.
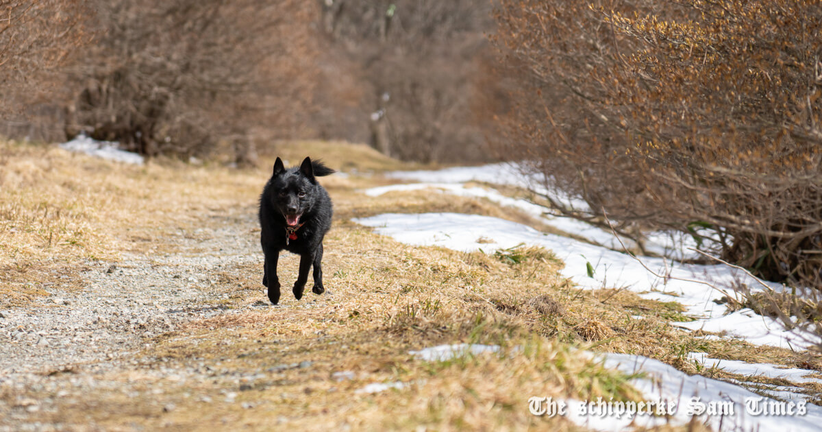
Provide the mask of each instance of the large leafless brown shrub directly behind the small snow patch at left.
[{"label": "large leafless brown shrub directly behind the small snow patch at left", "polygon": [[146,155],[202,156],[225,140],[248,162],[252,128],[287,135],[306,108],[314,6],[96,1],[99,38],[72,70],[72,132]]}]

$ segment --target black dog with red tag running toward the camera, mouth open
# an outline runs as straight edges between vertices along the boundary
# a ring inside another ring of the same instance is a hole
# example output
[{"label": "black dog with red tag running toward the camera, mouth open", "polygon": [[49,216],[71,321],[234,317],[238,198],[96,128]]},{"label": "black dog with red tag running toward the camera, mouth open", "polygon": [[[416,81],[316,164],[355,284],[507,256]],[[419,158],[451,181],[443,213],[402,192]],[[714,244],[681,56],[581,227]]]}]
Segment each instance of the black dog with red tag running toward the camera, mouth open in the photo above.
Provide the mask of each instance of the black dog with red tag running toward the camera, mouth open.
[{"label": "black dog with red tag running toward the camera, mouth open", "polygon": [[277,259],[285,249],[300,255],[300,273],[294,282],[294,297],[302,298],[308,269],[314,265],[314,294],[322,294],[322,239],[331,227],[331,198],[316,177],[334,174],[320,160],[302,160],[299,168],[286,170],[277,158],[274,174],[260,196],[260,243],[266,254],[262,285],[268,287],[271,303],[279,302]]}]

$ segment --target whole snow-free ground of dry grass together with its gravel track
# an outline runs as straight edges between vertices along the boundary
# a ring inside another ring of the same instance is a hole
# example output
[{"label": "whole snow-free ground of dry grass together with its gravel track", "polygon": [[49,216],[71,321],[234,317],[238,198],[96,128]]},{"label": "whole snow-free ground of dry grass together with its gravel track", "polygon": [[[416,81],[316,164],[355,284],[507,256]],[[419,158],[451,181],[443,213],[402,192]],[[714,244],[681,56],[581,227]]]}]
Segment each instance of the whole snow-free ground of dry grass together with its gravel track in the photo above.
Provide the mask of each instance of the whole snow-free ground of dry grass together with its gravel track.
[{"label": "whole snow-free ground of dry grass together with its gravel track", "polygon": [[[679,304],[582,290],[545,249],[464,253],[377,235],[352,219],[454,212],[556,230],[485,198],[367,195],[396,183],[386,170],[419,167],[366,146],[277,150],[291,164],[321,157],[343,173],[322,179],[335,201],[330,294],[272,307],[256,225],[270,165],[132,166],[2,144],[0,430],[576,430],[564,417],[531,415],[529,397],[640,397],[629,375],[580,348],[729,380],[745,377],[700,369],[688,355],[822,370],[807,351],[672,327]],[[281,258],[284,286],[297,263]],[[497,354],[411,353],[459,343]]]}]

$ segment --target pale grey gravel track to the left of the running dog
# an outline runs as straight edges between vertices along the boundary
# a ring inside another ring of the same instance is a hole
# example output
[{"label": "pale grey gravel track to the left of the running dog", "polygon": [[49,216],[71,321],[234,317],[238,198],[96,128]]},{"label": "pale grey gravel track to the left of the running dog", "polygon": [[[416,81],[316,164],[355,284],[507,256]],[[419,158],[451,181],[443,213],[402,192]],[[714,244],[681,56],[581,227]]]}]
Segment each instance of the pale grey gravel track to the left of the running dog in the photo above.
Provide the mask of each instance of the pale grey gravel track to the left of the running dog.
[{"label": "pale grey gravel track to the left of the running dog", "polygon": [[157,240],[178,252],[86,262],[85,289],[47,288],[51,296],[39,304],[0,311],[0,384],[75,365],[117,365],[179,323],[233,313],[218,304],[229,295],[215,286],[215,272],[261,262],[253,209],[241,211],[207,216],[213,229]]}]

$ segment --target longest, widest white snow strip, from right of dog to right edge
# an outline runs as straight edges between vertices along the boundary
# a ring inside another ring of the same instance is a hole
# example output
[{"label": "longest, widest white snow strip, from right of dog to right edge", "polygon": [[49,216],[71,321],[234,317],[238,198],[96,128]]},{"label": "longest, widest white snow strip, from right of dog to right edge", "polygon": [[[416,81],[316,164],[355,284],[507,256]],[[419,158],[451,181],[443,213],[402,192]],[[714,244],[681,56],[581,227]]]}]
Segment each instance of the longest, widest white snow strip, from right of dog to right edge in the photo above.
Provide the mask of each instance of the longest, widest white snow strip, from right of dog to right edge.
[{"label": "longest, widest white snow strip, from right of dog to right edge", "polygon": [[[700,318],[690,323],[676,323],[678,327],[726,332],[757,345],[785,348],[804,349],[819,342],[799,331],[785,329],[774,318],[749,314],[745,309],[725,315],[727,307],[714,300],[726,295],[732,297],[735,293],[728,293],[722,287],[741,282],[747,284],[752,291],[760,289],[750,276],[727,266],[682,264],[662,258],[642,258],[645,266],[663,276],[659,277],[625,253],[559,235],[543,234],[529,226],[489,216],[387,213],[353,221],[372,226],[378,234],[388,235],[405,244],[440,246],[466,252],[482,250],[486,253],[512,248],[518,244],[542,246],[552,250],[557,258],[565,262],[562,275],[580,287],[623,288],[651,300],[676,301],[686,307],[686,314]],[[593,277],[588,276],[589,264],[593,268]],[[782,289],[778,284],[771,284],[770,287],[774,290]]]}]

